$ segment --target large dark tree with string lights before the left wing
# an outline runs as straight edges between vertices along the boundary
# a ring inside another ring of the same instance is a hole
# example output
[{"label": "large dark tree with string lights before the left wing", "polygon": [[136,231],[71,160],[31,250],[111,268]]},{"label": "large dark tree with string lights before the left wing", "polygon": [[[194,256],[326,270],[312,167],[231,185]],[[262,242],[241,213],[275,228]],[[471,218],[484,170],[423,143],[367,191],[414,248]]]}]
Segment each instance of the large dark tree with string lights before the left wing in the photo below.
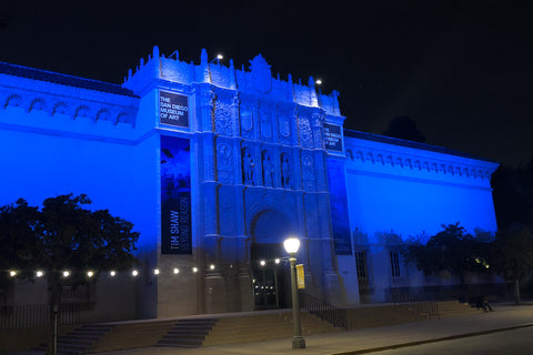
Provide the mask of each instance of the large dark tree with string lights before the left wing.
[{"label": "large dark tree with string lights before the left wing", "polygon": [[[90,203],[87,195],[67,194],[44,200],[41,210],[22,199],[0,209],[0,267],[30,281],[36,267],[43,271],[51,322],[61,303],[64,271],[76,287],[88,278],[95,282],[99,272],[127,270],[137,262],[132,252],[139,233],[132,232],[133,224],[108,210],[84,209]],[[49,353],[54,335],[53,323],[50,326]]]}]

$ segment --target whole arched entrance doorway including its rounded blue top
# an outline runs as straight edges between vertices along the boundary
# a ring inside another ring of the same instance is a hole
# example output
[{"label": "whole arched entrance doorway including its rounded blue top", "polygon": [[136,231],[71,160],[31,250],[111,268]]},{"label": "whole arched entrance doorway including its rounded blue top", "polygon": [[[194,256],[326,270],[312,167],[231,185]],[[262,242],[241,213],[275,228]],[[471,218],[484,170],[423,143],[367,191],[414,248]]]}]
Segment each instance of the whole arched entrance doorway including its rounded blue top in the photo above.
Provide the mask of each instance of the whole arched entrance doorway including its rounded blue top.
[{"label": "whole arched entrance doorway including its rounded blue top", "polygon": [[255,310],[290,305],[290,268],[283,263],[283,241],[292,234],[289,219],[275,209],[263,210],[250,223],[253,295]]}]

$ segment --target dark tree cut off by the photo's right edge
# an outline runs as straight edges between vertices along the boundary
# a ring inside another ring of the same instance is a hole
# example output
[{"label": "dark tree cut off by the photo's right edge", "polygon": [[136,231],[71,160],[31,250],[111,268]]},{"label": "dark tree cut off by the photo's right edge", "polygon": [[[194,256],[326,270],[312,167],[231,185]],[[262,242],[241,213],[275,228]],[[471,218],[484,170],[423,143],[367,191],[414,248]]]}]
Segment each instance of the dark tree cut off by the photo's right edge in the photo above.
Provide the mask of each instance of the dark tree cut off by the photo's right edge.
[{"label": "dark tree cut off by the photo's right edge", "polygon": [[491,268],[514,284],[514,303],[520,304],[520,280],[533,267],[533,231],[523,224],[497,231],[491,254]]}]

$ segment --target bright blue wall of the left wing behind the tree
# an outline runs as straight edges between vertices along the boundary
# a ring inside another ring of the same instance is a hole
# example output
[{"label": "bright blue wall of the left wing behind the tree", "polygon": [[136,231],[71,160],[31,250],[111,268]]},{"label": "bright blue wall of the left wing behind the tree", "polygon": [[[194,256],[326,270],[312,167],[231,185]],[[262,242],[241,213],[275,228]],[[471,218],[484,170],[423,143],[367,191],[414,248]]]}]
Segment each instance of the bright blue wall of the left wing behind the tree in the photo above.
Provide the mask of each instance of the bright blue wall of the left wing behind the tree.
[{"label": "bright blue wall of the left wing behind the tree", "polygon": [[[91,209],[133,221],[140,248],[153,247],[159,138],[144,135],[137,124],[139,98],[119,85],[10,70],[17,75],[0,73],[0,204],[23,197],[41,205],[50,196],[83,193]],[[39,292],[21,291],[26,287],[16,290],[18,302],[46,301]],[[107,294],[117,291],[134,295],[135,284],[131,277],[102,277],[97,294],[107,302],[95,305],[94,320],[138,315],[135,297]]]}]

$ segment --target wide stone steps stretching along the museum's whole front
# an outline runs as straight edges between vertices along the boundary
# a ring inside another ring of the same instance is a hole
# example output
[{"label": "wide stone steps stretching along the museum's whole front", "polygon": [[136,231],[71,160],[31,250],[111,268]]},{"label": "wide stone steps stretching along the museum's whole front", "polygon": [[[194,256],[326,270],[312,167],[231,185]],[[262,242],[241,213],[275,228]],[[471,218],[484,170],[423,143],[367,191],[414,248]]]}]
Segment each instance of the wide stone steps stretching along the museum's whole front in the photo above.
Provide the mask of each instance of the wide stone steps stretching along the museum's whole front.
[{"label": "wide stone steps stretching along the museum's whole front", "polygon": [[[483,313],[456,301],[438,302],[440,317]],[[415,322],[424,318],[409,308],[409,304],[386,304],[346,308],[350,329]],[[309,336],[341,328],[301,312],[302,335]],[[200,347],[231,343],[259,342],[291,337],[292,312],[255,312],[225,314],[219,318],[144,320],[109,324],[84,325],[58,338],[58,354],[113,352],[120,349],[167,346]],[[40,349],[44,349],[41,347]]]}]

